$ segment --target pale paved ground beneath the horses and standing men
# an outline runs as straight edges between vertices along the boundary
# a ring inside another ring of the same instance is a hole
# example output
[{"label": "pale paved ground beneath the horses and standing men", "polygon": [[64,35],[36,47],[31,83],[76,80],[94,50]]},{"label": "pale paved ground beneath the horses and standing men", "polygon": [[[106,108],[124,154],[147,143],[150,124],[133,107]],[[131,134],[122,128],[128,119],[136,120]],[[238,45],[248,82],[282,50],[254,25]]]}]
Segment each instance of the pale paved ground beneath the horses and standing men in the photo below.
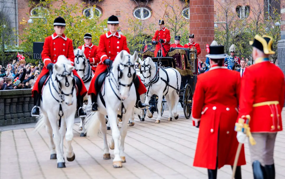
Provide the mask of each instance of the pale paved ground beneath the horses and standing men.
[{"label": "pale paved ground beneath the horses and standing men", "polygon": [[[75,123],[72,146],[76,159],[66,161],[64,169],[56,168],[56,160],[50,160],[48,136],[45,128],[39,133],[33,128],[7,130],[0,133],[0,178],[1,179],[206,179],[207,170],[193,167],[198,128],[192,120],[185,119],[182,108],[179,119],[167,121],[164,112],[160,124],[155,124],[155,115],[144,122],[135,119],[135,126],[128,127],[125,140],[127,163],[114,169],[112,160],[103,160],[103,140],[80,137],[79,123]],[[285,111],[282,112],[285,117]],[[284,121],[283,121],[284,124]],[[119,124],[119,127],[121,124]],[[111,130],[107,134],[111,140]],[[274,160],[276,179],[285,178],[285,132],[276,138]],[[113,158],[113,150],[110,150]],[[251,179],[252,168],[248,144],[245,144],[247,165],[242,166],[243,179]],[[218,178],[231,178],[231,167],[218,170]]]}]

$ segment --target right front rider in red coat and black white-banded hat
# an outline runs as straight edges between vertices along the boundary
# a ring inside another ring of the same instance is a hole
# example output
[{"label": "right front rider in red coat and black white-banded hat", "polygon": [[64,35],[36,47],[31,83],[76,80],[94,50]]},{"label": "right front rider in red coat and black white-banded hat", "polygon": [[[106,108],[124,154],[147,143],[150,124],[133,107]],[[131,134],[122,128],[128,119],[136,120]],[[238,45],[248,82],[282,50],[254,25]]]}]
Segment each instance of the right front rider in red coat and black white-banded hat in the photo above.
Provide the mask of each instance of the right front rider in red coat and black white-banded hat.
[{"label": "right front rider in red coat and black white-banded hat", "polygon": [[[95,70],[95,74],[92,78],[88,90],[88,94],[91,95],[91,100],[92,100],[92,111],[98,110],[97,91],[95,89],[96,77],[100,73],[106,71],[107,66],[112,65],[113,61],[115,60],[115,57],[119,52],[121,52],[122,50],[126,50],[128,53],[130,53],[129,48],[127,47],[126,37],[117,32],[119,27],[119,19],[117,18],[117,16],[114,15],[110,16],[108,18],[107,24],[110,31],[100,36],[99,46],[98,46],[98,56],[101,61],[99,62]],[[135,78],[133,83],[135,85],[137,92],[136,106],[139,108],[144,108],[146,107],[146,105],[141,102],[140,95],[146,93],[146,88],[144,87],[140,78]]]}]

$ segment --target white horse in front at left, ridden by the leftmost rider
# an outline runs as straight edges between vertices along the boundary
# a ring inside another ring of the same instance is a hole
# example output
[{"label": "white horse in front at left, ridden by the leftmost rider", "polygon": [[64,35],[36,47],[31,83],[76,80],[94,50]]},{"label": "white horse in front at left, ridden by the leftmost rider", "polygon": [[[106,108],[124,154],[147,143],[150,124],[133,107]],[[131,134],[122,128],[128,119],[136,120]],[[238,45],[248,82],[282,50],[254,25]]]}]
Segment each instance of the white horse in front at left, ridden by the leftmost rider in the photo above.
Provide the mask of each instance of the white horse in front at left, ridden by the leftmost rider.
[{"label": "white horse in front at left, ridden by the leftmost rider", "polygon": [[58,168],[65,168],[64,136],[67,142],[66,158],[68,161],[74,161],[75,159],[71,142],[77,100],[72,70],[74,70],[74,66],[71,65],[70,61],[64,55],[58,56],[58,60],[53,67],[53,73],[42,90],[41,117],[35,127],[35,130],[38,130],[46,125],[46,131],[50,139],[50,159],[57,159]]}]

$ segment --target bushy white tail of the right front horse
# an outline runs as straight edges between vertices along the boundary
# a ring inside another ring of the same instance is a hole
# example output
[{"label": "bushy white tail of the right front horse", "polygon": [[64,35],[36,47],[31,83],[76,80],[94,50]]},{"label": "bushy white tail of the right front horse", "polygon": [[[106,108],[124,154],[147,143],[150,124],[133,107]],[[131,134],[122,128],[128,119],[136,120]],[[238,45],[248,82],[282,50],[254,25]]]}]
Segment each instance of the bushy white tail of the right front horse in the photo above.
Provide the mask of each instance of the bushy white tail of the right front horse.
[{"label": "bushy white tail of the right front horse", "polygon": [[100,135],[100,119],[97,116],[96,112],[87,110],[87,116],[84,120],[84,133],[88,137],[96,137]]}]

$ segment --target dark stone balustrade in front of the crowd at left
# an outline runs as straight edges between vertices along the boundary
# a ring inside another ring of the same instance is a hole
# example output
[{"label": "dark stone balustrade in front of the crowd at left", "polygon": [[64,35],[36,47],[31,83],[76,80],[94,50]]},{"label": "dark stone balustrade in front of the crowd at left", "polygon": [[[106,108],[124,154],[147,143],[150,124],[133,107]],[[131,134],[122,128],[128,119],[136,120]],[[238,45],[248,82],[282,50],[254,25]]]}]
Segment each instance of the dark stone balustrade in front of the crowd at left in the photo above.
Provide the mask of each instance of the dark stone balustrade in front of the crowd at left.
[{"label": "dark stone balustrade in front of the crowd at left", "polygon": [[36,122],[31,89],[0,91],[0,126]]}]

